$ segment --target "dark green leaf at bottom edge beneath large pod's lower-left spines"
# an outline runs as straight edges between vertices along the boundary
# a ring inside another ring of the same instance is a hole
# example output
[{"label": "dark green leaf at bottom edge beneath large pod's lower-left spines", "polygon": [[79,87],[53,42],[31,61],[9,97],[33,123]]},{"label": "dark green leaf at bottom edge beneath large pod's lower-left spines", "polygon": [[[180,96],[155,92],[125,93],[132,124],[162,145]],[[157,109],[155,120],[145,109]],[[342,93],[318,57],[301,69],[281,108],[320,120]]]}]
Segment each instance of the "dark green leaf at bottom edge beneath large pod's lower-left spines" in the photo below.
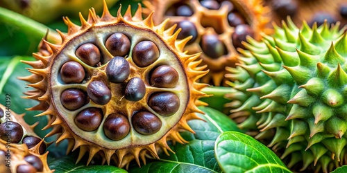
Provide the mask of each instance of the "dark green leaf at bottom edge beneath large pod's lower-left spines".
[{"label": "dark green leaf at bottom edge beneath large pod's lower-left spines", "polygon": [[90,165],[85,166],[83,163],[75,164],[76,162],[76,156],[65,156],[62,158],[59,158],[56,161],[52,161],[49,164],[49,168],[51,170],[56,170],[55,173],[60,172],[83,172],[83,173],[122,173],[126,172],[126,170],[123,170],[119,167],[115,166],[108,166],[108,165]]}]

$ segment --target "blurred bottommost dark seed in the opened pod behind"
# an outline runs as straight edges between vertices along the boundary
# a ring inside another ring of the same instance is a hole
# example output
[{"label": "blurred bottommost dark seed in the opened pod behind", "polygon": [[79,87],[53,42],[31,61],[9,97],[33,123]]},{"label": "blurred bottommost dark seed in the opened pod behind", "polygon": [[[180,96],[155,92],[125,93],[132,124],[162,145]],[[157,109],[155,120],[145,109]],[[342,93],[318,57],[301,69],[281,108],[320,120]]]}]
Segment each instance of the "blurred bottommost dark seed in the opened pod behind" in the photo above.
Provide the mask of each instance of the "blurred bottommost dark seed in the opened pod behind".
[{"label": "blurred bottommost dark seed in the opened pod behind", "polygon": [[217,34],[205,34],[201,38],[200,46],[205,55],[212,59],[217,59],[226,55],[226,46],[219,40]]}]

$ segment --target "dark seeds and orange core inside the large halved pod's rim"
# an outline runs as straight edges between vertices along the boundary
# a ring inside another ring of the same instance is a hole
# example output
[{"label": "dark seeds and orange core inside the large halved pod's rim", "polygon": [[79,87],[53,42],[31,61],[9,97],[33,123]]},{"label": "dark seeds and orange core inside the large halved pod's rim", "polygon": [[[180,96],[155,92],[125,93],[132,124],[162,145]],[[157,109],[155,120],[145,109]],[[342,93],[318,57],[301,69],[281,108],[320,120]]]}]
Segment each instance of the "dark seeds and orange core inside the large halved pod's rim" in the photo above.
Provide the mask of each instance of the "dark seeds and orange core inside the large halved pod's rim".
[{"label": "dark seeds and orange core inside the large halved pod's rim", "polygon": [[58,75],[53,79],[58,81],[60,114],[74,123],[72,128],[118,141],[156,134],[174,123],[163,121],[180,108],[176,89],[182,87],[182,67],[167,59],[174,55],[162,53],[158,42],[116,32],[75,50],[56,62],[60,69],[53,74]]}]

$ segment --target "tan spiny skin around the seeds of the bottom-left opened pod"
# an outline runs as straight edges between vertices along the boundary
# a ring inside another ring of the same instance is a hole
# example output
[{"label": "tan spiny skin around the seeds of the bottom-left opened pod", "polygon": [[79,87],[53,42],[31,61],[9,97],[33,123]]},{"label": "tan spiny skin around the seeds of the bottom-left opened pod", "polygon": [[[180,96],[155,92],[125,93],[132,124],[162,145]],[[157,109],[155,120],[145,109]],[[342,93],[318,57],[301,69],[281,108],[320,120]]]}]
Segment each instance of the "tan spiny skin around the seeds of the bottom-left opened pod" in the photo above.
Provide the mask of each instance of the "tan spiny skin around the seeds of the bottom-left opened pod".
[{"label": "tan spiny skin around the seeds of the bottom-left opened pod", "polygon": [[[21,128],[23,129],[22,139],[25,138],[26,136],[35,136],[37,138],[40,138],[33,131],[34,127],[37,125],[38,122],[35,123],[34,125],[28,125],[26,124],[23,118],[24,114],[18,115],[12,110],[6,109],[6,107],[3,106],[2,104],[0,104],[0,109],[4,113],[3,117],[0,118],[1,124],[6,125],[6,123],[8,122],[6,121],[6,118],[10,118],[12,122],[17,122],[19,125],[21,125]],[[30,163],[27,163],[26,161],[24,161],[24,157],[28,155],[34,155],[40,158],[43,164],[42,172],[46,172],[46,173],[53,172],[52,170],[49,169],[49,166],[46,161],[47,154],[48,154],[48,152],[45,151],[46,147],[44,148],[44,150],[42,150],[42,147],[41,147],[42,145],[46,145],[48,147],[49,144],[45,143],[44,140],[40,140],[40,142],[37,143],[35,146],[28,148],[28,146],[25,143],[22,143],[22,139],[19,143],[8,143],[8,141],[0,139],[0,152],[2,152],[0,155],[1,172],[17,172],[16,169],[18,165],[22,165],[22,164],[30,165]],[[10,154],[10,159],[8,159],[7,156],[5,157],[5,155],[8,153]],[[9,165],[10,167],[6,166],[6,164],[9,164],[8,162],[6,162],[6,160],[10,160],[10,165]]]}]

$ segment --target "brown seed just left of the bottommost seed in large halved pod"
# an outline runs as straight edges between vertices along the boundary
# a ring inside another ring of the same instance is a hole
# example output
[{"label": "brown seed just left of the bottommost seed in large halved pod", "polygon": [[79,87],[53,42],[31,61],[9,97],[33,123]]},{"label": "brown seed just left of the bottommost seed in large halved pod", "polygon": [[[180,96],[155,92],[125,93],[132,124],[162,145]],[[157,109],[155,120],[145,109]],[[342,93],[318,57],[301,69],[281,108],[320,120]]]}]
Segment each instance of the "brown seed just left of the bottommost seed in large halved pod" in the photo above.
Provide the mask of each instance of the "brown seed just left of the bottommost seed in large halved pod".
[{"label": "brown seed just left of the bottommost seed in large halved pod", "polygon": [[91,107],[78,113],[75,123],[78,128],[84,131],[94,131],[99,128],[102,120],[103,111],[99,108]]}]

